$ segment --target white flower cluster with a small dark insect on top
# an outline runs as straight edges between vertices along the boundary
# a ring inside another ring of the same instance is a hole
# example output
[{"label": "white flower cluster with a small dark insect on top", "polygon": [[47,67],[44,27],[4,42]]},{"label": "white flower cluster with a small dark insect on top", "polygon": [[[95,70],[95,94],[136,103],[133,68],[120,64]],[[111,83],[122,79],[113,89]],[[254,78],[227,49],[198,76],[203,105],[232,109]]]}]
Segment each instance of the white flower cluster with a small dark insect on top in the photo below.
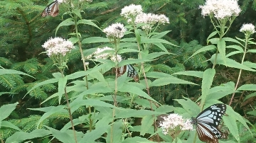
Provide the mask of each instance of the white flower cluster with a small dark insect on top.
[{"label": "white flower cluster with a small dark insect on top", "polygon": [[127,31],[124,25],[121,23],[113,23],[107,28],[103,29],[103,32],[107,34],[107,38],[122,38],[124,32]]}]

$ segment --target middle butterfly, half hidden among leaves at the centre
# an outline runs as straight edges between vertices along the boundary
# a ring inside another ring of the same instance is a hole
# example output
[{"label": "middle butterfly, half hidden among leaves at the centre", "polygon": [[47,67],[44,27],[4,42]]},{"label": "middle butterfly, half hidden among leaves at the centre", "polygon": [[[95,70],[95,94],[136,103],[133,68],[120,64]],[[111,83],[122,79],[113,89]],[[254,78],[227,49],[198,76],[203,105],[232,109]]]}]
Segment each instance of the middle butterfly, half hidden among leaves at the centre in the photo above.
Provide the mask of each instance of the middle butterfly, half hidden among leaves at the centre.
[{"label": "middle butterfly, half hidden among leaves at the centre", "polygon": [[131,64],[124,65],[117,69],[117,76],[122,76],[125,72],[127,72],[127,76],[132,77],[134,81],[139,81],[139,75],[137,71],[132,67]]}]

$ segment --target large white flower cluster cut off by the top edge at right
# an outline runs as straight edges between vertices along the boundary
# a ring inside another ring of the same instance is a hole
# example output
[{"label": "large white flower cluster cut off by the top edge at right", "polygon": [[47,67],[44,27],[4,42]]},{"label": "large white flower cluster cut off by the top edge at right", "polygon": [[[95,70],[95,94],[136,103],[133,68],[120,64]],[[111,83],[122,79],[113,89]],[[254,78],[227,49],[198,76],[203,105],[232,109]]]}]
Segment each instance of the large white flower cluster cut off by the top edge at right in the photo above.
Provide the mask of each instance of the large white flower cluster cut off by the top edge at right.
[{"label": "large white flower cluster cut off by the top edge at right", "polygon": [[202,16],[213,14],[217,19],[238,16],[241,9],[238,0],[206,0],[206,4],[199,6],[202,9]]}]

